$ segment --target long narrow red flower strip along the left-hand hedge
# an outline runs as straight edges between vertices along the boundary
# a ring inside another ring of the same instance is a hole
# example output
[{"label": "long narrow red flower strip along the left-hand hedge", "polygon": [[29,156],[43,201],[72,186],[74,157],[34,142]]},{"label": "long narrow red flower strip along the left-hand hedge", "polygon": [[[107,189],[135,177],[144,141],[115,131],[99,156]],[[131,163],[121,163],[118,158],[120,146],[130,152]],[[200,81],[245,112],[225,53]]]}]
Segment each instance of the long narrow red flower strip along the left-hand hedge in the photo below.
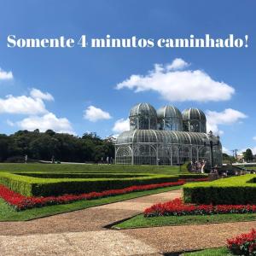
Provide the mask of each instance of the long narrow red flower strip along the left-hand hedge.
[{"label": "long narrow red flower strip along the left-hand hedge", "polygon": [[177,181],[172,183],[158,183],[158,184],[149,184],[149,185],[141,185],[141,186],[131,186],[125,189],[111,189],[105,190],[102,192],[90,192],[86,194],[80,195],[60,195],[60,196],[47,196],[47,197],[34,197],[34,196],[24,196],[14,191],[0,185],[0,197],[3,198],[4,201],[7,201],[9,205],[15,207],[17,211],[25,210],[33,207],[44,207],[49,205],[57,205],[57,204],[66,204],[73,201],[79,200],[92,200],[97,198],[102,198],[111,195],[124,195],[131,192],[136,191],[144,191],[149,189],[159,189],[165,187],[172,186],[180,186],[183,185],[184,181]]}]

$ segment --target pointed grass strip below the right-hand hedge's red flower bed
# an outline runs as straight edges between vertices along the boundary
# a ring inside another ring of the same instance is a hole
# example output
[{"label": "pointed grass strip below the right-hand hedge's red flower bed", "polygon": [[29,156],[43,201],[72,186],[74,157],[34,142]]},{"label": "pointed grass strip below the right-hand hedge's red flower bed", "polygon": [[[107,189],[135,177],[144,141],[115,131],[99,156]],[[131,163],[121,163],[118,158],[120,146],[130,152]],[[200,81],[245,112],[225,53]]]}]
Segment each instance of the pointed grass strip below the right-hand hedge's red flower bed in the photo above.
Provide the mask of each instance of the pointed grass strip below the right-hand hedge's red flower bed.
[{"label": "pointed grass strip below the right-hand hedge's red flower bed", "polygon": [[139,214],[129,218],[122,223],[113,225],[113,229],[148,228],[168,225],[184,224],[212,224],[224,222],[253,221],[256,220],[256,213],[227,213],[213,215],[185,215],[185,216],[160,216],[145,218]]}]

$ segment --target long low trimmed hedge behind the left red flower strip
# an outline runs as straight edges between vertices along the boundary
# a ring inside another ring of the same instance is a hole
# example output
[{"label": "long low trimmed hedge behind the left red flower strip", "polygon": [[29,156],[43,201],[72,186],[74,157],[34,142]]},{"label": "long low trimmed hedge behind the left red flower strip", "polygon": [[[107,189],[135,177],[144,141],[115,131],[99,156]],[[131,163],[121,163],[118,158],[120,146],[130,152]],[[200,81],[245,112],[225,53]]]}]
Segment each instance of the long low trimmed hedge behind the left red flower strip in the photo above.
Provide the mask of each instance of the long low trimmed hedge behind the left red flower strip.
[{"label": "long low trimmed hedge behind the left red flower strip", "polygon": [[113,178],[40,178],[0,172],[0,183],[26,196],[82,194],[92,191],[124,189],[133,185],[176,182],[177,176],[150,175],[143,177]]}]

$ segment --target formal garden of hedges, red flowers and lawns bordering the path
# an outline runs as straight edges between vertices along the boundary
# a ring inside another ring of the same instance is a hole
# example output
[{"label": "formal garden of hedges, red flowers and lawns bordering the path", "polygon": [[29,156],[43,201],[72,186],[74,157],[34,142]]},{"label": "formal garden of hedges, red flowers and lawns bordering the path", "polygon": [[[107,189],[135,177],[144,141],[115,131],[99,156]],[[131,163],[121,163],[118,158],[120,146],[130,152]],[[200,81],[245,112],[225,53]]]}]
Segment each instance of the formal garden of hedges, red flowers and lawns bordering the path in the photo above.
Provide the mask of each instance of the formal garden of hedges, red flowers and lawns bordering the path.
[{"label": "formal garden of hedges, red flowers and lawns bordering the path", "polygon": [[[209,181],[187,166],[0,164],[0,220],[30,220],[177,189],[182,197],[156,202],[111,229],[256,219],[255,174]],[[226,239],[226,247],[188,255],[255,255],[255,230]]]}]

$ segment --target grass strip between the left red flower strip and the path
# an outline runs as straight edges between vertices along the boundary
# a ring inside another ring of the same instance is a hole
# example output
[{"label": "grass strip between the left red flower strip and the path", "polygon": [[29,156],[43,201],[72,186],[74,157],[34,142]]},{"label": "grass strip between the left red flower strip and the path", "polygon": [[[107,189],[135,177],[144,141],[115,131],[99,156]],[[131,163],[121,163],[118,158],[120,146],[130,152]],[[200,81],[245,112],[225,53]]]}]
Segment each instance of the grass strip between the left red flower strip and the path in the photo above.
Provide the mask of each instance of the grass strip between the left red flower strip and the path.
[{"label": "grass strip between the left red flower strip and the path", "polygon": [[3,201],[3,199],[0,199],[0,221],[21,221],[30,220],[33,218],[42,218],[46,216],[55,215],[58,213],[73,212],[81,209],[86,209],[89,207],[101,206],[116,201],[124,201],[144,195],[153,195],[180,188],[181,186],[168,187],[162,189],[152,189],[147,191],[133,192],[125,195],[114,195],[90,201],[75,201],[70,204],[33,208],[20,212],[15,211],[15,208],[10,207],[5,201]]}]

